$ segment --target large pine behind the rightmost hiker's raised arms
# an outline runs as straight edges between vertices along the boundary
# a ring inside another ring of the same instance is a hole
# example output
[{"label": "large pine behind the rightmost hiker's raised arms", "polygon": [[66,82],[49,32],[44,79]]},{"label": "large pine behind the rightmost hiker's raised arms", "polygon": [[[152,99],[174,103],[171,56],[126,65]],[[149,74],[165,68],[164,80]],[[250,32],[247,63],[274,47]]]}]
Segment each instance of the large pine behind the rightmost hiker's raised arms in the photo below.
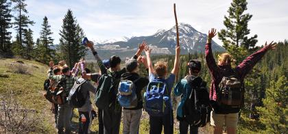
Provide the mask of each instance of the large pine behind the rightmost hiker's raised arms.
[{"label": "large pine behind the rightmost hiker's raised arms", "polygon": [[237,62],[241,62],[243,59],[239,54],[248,55],[247,51],[250,49],[254,50],[257,42],[257,35],[248,38],[250,34],[248,22],[252,18],[252,15],[243,14],[247,10],[247,4],[246,0],[233,0],[228,9],[229,15],[224,16],[226,29],[221,29],[218,32],[219,39],[223,42],[224,48],[235,56]]}]

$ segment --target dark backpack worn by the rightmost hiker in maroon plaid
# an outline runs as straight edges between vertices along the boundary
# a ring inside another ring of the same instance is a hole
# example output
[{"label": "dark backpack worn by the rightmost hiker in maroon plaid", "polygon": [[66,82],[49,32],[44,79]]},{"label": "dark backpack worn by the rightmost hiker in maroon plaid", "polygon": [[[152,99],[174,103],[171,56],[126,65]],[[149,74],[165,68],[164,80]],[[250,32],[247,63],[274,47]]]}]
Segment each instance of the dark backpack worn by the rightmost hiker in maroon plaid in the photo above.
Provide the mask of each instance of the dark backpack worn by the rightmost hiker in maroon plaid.
[{"label": "dark backpack worn by the rightmost hiker in maroon plaid", "polygon": [[235,70],[224,76],[219,83],[217,103],[223,107],[240,108],[244,103],[245,88]]}]

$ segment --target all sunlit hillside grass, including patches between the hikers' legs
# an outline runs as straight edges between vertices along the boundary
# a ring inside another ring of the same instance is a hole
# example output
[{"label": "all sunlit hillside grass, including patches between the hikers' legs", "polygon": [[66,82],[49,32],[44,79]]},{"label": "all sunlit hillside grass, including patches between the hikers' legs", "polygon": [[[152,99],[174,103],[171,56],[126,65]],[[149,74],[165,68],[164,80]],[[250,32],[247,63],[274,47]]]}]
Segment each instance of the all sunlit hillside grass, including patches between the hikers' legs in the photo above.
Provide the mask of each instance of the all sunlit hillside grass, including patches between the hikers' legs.
[{"label": "all sunlit hillside grass, including patches between the hikers' legs", "polygon": [[[17,61],[21,61],[25,66],[27,66],[26,74],[13,72],[14,67],[11,65],[16,64]],[[44,64],[24,59],[0,59],[0,98],[1,96],[7,96],[6,94],[10,94],[12,91],[15,100],[19,102],[23,108],[36,110],[35,116],[41,120],[40,124],[37,126],[38,130],[34,133],[56,133],[55,124],[53,122],[53,113],[50,111],[51,105],[43,97],[43,81],[47,78],[47,68],[48,66]],[[94,98],[93,95],[91,98]],[[93,107],[97,110],[95,105],[93,105]],[[72,126],[75,129],[74,132],[77,131],[77,118],[77,109],[74,109],[72,120]],[[174,118],[176,118],[175,112]],[[178,128],[179,122],[174,119],[174,133],[178,133]],[[120,129],[120,133],[122,133],[122,122]],[[92,133],[97,133],[98,131],[97,118],[93,120],[91,131]],[[200,129],[200,132],[211,133],[211,127],[207,126],[206,128]],[[149,133],[149,116],[145,111],[143,111],[141,117],[139,133]]]}]

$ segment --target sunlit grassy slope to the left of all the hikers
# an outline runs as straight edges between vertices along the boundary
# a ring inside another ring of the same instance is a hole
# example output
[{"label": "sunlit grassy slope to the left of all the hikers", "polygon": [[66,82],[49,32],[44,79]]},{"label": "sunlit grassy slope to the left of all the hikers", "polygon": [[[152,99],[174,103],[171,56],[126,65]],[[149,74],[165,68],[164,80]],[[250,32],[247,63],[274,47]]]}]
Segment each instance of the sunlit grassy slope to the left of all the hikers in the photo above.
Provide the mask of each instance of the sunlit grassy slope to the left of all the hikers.
[{"label": "sunlit grassy slope to the left of all the hikers", "polygon": [[[29,66],[29,75],[11,72],[10,64],[17,60],[23,61]],[[8,78],[0,77],[0,94],[8,94],[11,91],[15,99],[27,109],[36,109],[43,118],[41,133],[56,133],[53,124],[53,113],[50,104],[43,97],[43,82],[47,77],[47,68],[43,64],[23,59],[0,59],[0,75],[8,75]]]}]

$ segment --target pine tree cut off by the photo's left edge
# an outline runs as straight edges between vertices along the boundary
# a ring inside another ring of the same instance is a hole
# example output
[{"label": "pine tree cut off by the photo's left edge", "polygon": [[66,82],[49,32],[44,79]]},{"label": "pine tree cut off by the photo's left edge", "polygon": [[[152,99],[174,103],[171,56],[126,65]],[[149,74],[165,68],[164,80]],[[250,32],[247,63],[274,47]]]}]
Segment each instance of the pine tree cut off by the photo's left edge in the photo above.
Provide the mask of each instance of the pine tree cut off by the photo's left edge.
[{"label": "pine tree cut off by the photo's left edge", "polygon": [[12,27],[10,6],[11,2],[0,0],[0,52],[6,56],[11,55],[11,32],[8,31]]}]

